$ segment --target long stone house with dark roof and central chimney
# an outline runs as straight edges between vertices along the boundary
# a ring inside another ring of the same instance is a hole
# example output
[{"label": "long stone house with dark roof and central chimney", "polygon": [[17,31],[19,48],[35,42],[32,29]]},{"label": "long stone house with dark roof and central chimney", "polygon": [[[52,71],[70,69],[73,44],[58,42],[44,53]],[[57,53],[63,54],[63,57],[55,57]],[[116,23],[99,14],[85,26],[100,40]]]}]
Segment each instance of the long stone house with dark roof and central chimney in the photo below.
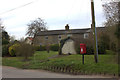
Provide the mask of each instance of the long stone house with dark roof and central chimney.
[{"label": "long stone house with dark roof and central chimney", "polygon": [[[103,31],[104,27],[97,27],[97,31]],[[33,40],[34,45],[48,45],[48,44],[59,44],[62,39],[72,37],[76,45],[78,43],[89,43],[92,44],[93,32],[91,28],[85,29],[69,29],[69,25],[65,26],[64,30],[48,30],[40,31],[35,39]],[[90,40],[91,38],[91,40]]]}]

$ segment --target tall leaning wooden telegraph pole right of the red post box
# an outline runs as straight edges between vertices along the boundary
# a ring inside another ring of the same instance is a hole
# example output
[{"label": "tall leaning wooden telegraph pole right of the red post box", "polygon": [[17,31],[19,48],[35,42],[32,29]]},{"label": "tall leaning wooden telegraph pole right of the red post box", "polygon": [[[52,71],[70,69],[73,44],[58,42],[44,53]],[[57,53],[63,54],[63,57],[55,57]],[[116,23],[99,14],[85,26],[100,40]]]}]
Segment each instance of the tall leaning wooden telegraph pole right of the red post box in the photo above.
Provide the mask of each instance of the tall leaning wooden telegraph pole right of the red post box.
[{"label": "tall leaning wooden telegraph pole right of the red post box", "polygon": [[92,28],[93,28],[93,35],[94,35],[94,57],[95,57],[95,62],[98,63],[97,32],[95,27],[95,14],[94,14],[93,0],[91,0],[91,15],[92,15]]}]

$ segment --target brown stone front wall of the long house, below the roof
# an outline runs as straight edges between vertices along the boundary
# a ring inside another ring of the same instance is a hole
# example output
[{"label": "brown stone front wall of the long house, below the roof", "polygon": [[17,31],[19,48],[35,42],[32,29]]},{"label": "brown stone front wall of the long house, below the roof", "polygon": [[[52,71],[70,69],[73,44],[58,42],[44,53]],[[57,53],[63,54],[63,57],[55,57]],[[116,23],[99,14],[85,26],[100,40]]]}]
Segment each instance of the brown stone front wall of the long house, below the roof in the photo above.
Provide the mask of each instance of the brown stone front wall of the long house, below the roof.
[{"label": "brown stone front wall of the long house, below the roof", "polygon": [[[84,38],[84,34],[65,34],[65,35],[49,35],[49,36],[37,36],[33,44],[35,45],[47,45],[47,44],[58,44],[61,39],[65,39],[68,36],[72,37],[75,41],[75,44],[86,43],[88,38]],[[88,35],[89,36],[89,35]],[[48,37],[48,39],[46,39]]]}]

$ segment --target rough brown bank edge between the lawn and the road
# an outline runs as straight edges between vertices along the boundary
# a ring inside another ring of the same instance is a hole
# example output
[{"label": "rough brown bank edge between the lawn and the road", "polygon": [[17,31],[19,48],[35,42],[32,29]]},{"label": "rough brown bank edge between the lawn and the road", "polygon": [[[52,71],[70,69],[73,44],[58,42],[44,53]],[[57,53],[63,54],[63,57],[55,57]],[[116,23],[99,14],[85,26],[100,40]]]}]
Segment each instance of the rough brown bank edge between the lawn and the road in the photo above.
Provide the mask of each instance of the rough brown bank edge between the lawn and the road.
[{"label": "rough brown bank edge between the lawn and the road", "polygon": [[109,74],[109,73],[105,73],[105,72],[95,73],[92,71],[74,70],[74,69],[67,68],[67,67],[41,66],[40,68],[44,69],[44,70],[53,71],[53,72],[67,73],[67,74],[73,74],[73,75],[103,75],[103,76],[118,77],[118,74],[115,74],[115,73],[114,74]]}]

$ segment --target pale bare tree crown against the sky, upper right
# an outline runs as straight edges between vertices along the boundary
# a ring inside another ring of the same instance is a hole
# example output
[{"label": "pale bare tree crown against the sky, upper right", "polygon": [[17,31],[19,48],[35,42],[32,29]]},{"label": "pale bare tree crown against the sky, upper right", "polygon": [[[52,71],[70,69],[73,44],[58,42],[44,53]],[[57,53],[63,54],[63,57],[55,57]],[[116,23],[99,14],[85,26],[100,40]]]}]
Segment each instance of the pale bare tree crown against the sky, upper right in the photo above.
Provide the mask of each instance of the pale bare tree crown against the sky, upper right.
[{"label": "pale bare tree crown against the sky, upper right", "polygon": [[105,26],[113,26],[119,23],[120,2],[109,2],[103,4],[106,16]]}]

